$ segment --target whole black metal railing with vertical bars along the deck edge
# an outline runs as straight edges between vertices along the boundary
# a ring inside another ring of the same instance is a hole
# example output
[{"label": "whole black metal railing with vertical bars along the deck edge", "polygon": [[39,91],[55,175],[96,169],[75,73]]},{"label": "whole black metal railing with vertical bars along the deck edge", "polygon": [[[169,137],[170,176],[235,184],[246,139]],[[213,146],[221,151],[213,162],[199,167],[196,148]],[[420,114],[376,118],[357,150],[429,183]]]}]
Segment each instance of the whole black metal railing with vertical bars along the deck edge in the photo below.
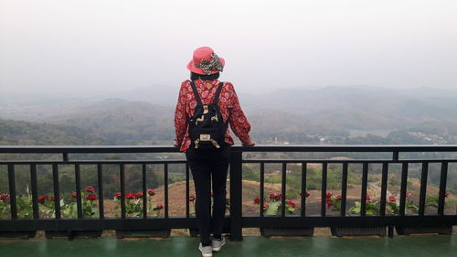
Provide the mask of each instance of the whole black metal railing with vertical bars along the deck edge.
[{"label": "whole black metal railing with vertical bars along the deck edge", "polygon": [[[388,158],[374,159],[243,159],[243,153],[259,152],[294,152],[294,153],[387,153]],[[399,158],[403,153],[447,153],[446,158]],[[62,160],[2,160],[0,166],[7,166],[8,185],[10,195],[11,219],[0,220],[0,231],[20,231],[20,230],[151,230],[151,229],[197,229],[197,220],[189,215],[189,199],[186,198],[186,216],[170,217],[168,203],[168,166],[170,164],[180,164],[186,166],[186,196],[189,196],[189,168],[185,159],[179,160],[71,160],[69,154],[107,154],[107,153],[178,153],[178,149],[172,146],[0,146],[0,154],[59,154]],[[262,227],[376,227],[387,226],[389,235],[393,232],[393,226],[452,226],[457,225],[457,214],[448,215],[444,213],[446,182],[448,179],[448,168],[450,163],[457,162],[457,145],[260,145],[253,147],[232,146],[231,160],[229,167],[229,216],[226,217],[224,226],[229,230],[232,240],[242,240],[242,228],[262,228]],[[281,189],[282,204],[281,212],[278,216],[264,215],[262,208],[264,202],[264,183],[265,183],[265,164],[280,164],[281,168]],[[321,182],[321,203],[320,214],[310,215],[306,213],[306,180],[307,164],[322,165]],[[430,163],[441,164],[441,174],[439,182],[438,208],[436,214],[425,214],[425,199],[427,191],[427,177]],[[105,217],[103,209],[103,165],[118,165],[121,187],[121,217]],[[142,170],[142,190],[143,190],[143,217],[127,217],[125,210],[125,165],[141,165]],[[146,202],[146,165],[158,164],[164,166],[164,217],[151,219],[147,217]],[[242,213],[242,173],[243,164],[260,165],[260,215],[243,215]],[[286,168],[288,164],[301,164],[301,201],[300,213],[298,215],[285,215],[285,195],[286,195]],[[326,215],[325,200],[327,191],[327,167],[329,164],[339,164],[342,166],[341,179],[341,210],[340,215]],[[348,165],[362,165],[362,181],[360,194],[360,214],[347,216],[347,176]],[[367,185],[368,185],[368,166],[378,164],[382,166],[381,188],[380,188],[380,208],[379,215],[367,215]],[[401,165],[400,178],[400,197],[399,214],[387,215],[387,187],[389,164]],[[407,215],[406,192],[408,182],[409,164],[420,164],[420,203],[417,215]],[[16,183],[15,167],[26,165],[30,167],[33,219],[18,219],[16,207]],[[53,191],[55,201],[55,218],[40,218],[38,215],[38,195],[37,195],[37,165],[52,166]],[[77,218],[62,218],[59,201],[58,165],[72,165],[75,170],[75,187],[77,192]],[[82,215],[81,196],[80,196],[80,165],[97,165],[97,180],[99,194],[100,217],[87,219]]]}]

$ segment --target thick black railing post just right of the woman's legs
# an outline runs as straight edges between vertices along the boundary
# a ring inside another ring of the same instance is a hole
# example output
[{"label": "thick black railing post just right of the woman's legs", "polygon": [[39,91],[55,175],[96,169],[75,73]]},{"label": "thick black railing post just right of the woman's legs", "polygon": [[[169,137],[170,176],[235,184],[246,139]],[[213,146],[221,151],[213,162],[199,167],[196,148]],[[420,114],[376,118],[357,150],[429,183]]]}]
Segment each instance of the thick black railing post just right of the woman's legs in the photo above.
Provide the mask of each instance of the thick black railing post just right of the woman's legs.
[{"label": "thick black railing post just right of the woman's legs", "polygon": [[241,151],[232,151],[230,155],[230,239],[242,241],[242,155]]}]

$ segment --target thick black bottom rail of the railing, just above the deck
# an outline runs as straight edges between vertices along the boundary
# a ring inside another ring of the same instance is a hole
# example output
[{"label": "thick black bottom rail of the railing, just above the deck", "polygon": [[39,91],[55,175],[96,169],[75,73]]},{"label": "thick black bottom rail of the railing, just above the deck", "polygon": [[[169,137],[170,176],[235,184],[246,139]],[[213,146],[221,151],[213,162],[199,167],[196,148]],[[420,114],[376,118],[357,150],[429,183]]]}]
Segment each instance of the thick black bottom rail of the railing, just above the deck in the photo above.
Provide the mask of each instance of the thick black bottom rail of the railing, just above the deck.
[{"label": "thick black bottom rail of the railing, just above the deck", "polygon": [[[407,225],[409,227],[421,226],[451,226],[457,225],[457,215],[426,215],[426,216],[325,216],[306,217],[259,217],[243,216],[241,218],[243,228],[259,227],[373,227],[373,226],[396,226]],[[224,219],[224,227],[228,227],[229,217]],[[77,228],[77,229],[75,229]],[[151,230],[151,229],[197,229],[196,218],[170,217],[147,218],[130,217],[124,220],[116,218],[99,219],[18,219],[0,220],[0,231],[7,230]]]}]

